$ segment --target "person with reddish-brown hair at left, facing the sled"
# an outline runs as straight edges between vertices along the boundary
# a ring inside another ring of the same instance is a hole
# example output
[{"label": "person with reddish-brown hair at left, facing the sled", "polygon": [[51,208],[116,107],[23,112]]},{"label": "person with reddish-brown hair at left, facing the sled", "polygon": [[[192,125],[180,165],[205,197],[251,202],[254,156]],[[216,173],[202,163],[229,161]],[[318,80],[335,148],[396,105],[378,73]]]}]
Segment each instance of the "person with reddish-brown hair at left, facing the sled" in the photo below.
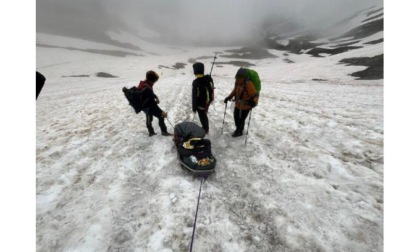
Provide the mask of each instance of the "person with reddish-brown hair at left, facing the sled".
[{"label": "person with reddish-brown hair at left, facing the sled", "polygon": [[163,136],[172,136],[168,133],[168,130],[165,125],[165,118],[168,116],[168,113],[162,111],[159,108],[159,98],[153,92],[153,85],[159,79],[159,75],[154,71],[148,71],[146,73],[146,80],[140,81],[137,89],[142,92],[143,97],[143,111],[146,114],[146,127],[149,131],[149,136],[156,135],[155,130],[153,129],[152,122],[153,117],[157,117],[159,120],[159,127]]}]

